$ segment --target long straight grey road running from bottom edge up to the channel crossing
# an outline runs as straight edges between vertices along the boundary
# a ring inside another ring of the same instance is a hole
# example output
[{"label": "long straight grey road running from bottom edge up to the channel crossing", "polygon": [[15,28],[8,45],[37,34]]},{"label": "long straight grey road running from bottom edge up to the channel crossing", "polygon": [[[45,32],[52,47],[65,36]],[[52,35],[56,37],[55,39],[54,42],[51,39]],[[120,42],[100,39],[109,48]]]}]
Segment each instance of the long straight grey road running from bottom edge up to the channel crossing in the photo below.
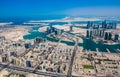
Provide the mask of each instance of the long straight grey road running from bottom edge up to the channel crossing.
[{"label": "long straight grey road running from bottom edge up to the channel crossing", "polygon": [[68,70],[68,73],[67,73],[67,77],[71,77],[72,66],[73,66],[73,62],[74,62],[74,57],[76,55],[77,47],[78,47],[78,39],[76,38],[75,46],[74,46],[74,50],[73,50],[73,54],[72,54],[71,62],[70,62],[70,66],[69,66],[69,70]]}]

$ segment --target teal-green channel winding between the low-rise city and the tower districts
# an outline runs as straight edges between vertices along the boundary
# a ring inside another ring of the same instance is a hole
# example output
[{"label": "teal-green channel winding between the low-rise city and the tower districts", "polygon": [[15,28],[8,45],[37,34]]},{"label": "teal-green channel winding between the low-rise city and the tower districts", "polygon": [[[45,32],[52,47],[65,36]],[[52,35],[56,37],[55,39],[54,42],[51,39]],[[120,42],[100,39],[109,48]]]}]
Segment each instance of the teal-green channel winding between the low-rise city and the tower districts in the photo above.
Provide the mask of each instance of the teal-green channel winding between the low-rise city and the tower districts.
[{"label": "teal-green channel winding between the low-rise city and the tower districts", "polygon": [[[49,41],[52,42],[58,42],[58,40],[54,39],[54,38],[49,38],[46,36],[45,33],[39,32],[38,31],[39,27],[33,27],[28,35],[25,35],[23,38],[24,39],[34,39],[36,37],[41,37],[41,38],[45,38]],[[86,38],[82,38],[83,39],[83,43],[78,43],[78,46],[82,46],[84,48],[84,50],[92,50],[92,51],[96,51],[96,48],[99,49],[99,51],[101,52],[107,52],[106,48],[108,48],[111,52],[116,53],[115,49],[120,49],[120,44],[118,45],[105,45],[105,44],[101,44],[98,43],[96,44],[93,40],[91,39],[86,39]],[[74,46],[74,42],[67,42],[67,41],[61,41],[61,43],[65,43],[67,45],[70,46]]]}]

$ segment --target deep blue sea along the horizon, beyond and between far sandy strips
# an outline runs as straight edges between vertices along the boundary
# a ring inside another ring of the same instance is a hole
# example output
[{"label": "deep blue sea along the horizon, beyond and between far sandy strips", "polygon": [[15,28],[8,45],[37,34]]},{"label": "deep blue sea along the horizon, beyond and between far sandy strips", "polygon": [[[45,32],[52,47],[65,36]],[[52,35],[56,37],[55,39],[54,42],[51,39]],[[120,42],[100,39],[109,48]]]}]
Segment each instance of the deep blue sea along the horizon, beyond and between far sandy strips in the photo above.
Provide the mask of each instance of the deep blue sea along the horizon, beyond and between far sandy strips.
[{"label": "deep blue sea along the horizon, beyond and between far sandy strips", "polygon": [[[13,25],[21,25],[24,22],[28,22],[31,20],[55,20],[55,19],[62,19],[64,18],[64,15],[54,15],[54,16],[37,16],[37,17],[0,17],[0,22],[13,22]],[[104,20],[104,19],[103,19]],[[120,19],[118,19],[119,21],[116,20],[110,20],[107,19],[107,22],[113,21],[116,22],[118,24],[120,24]],[[102,21],[94,21],[94,23],[96,24],[100,24]],[[48,23],[48,22],[46,22]],[[53,22],[53,23],[49,23],[50,25],[57,25],[57,24],[67,24],[68,22]],[[78,23],[78,24],[86,24],[87,21],[80,21],[80,22],[74,22],[74,23]]]}]

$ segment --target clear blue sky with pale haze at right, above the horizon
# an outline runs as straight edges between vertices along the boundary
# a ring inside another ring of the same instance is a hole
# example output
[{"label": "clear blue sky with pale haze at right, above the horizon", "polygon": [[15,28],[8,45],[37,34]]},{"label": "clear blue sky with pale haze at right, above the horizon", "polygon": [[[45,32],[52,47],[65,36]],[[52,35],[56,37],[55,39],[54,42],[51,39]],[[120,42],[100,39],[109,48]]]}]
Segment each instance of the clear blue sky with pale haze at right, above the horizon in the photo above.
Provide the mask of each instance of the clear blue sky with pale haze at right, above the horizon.
[{"label": "clear blue sky with pale haze at right, above the horizon", "polygon": [[0,16],[120,16],[120,0],[0,0]]}]

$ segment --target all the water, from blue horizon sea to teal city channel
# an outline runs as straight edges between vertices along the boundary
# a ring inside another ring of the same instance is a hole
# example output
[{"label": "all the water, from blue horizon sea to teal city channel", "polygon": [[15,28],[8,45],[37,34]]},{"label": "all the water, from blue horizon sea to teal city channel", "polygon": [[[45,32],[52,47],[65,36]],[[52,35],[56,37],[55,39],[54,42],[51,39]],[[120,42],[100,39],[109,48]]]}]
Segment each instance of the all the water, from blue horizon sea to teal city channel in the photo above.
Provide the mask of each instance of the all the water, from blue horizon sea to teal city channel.
[{"label": "all the water, from blue horizon sea to teal city channel", "polygon": [[[0,22],[13,22],[12,25],[23,25],[24,22],[28,22],[31,20],[55,20],[55,19],[61,19],[64,18],[65,16],[40,16],[40,17],[0,17]],[[104,19],[103,19],[104,20]],[[117,24],[120,24],[120,19],[105,19],[107,20],[107,22],[116,22]],[[78,24],[86,24],[88,21],[80,21],[80,22],[72,22],[74,24],[78,23]],[[96,24],[101,24],[102,21],[94,21],[94,23]],[[47,23],[47,22],[46,22]],[[63,25],[63,24],[68,24],[68,22],[52,22],[49,23],[50,26],[52,25]],[[24,26],[24,25],[23,25]],[[27,25],[29,26],[29,25]],[[45,33],[39,32],[38,31],[39,27],[38,26],[33,26],[33,28],[31,30],[29,30],[29,34],[23,36],[24,39],[34,39],[36,37],[41,37],[41,38],[45,38],[49,41],[52,42],[58,42],[57,39],[54,38],[49,38],[46,36]],[[81,37],[82,38],[82,37]],[[95,43],[93,40],[91,39],[83,39],[83,43],[78,43],[78,46],[83,47],[84,50],[91,50],[91,51],[96,51],[96,48],[98,48],[98,50],[100,52],[107,52],[106,48],[108,48],[110,50],[111,53],[119,53],[117,51],[117,49],[120,49],[120,44],[116,44],[116,45],[105,45],[102,43]],[[61,41],[61,43],[67,44],[69,46],[74,46],[74,42],[68,42],[68,41]]]}]

